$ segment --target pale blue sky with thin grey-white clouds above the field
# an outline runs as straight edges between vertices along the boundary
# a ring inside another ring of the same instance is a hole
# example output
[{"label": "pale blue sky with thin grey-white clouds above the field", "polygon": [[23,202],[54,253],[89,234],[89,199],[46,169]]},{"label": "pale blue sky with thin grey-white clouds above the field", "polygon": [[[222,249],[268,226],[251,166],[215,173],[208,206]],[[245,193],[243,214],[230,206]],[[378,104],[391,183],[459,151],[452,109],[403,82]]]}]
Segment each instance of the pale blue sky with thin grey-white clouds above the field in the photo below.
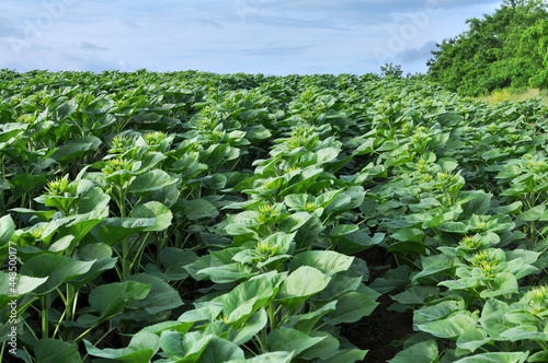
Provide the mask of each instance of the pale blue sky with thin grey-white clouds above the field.
[{"label": "pale blue sky with thin grey-white clouds above the field", "polygon": [[425,72],[493,0],[2,0],[0,68]]}]

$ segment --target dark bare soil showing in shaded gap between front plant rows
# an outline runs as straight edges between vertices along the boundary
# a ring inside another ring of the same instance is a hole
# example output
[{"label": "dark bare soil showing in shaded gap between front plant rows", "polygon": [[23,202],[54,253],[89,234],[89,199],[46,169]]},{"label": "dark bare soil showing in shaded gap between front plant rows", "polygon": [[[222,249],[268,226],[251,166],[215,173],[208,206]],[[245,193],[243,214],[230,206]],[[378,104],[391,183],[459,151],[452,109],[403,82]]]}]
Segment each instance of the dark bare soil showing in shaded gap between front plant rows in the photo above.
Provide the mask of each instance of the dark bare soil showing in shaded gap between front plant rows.
[{"label": "dark bare soil showing in shaded gap between front plant rows", "polygon": [[[395,268],[396,264],[391,254],[380,247],[374,247],[356,255],[364,259],[369,267],[373,281],[383,277],[386,269],[375,270],[375,267],[389,265]],[[391,312],[387,308],[393,303],[390,292],[377,298],[379,305],[372,315],[353,324],[341,326],[341,335],[359,349],[369,350],[364,362],[384,363],[391,360],[401,351],[403,338],[413,333],[413,314],[411,311],[404,313]]]}]

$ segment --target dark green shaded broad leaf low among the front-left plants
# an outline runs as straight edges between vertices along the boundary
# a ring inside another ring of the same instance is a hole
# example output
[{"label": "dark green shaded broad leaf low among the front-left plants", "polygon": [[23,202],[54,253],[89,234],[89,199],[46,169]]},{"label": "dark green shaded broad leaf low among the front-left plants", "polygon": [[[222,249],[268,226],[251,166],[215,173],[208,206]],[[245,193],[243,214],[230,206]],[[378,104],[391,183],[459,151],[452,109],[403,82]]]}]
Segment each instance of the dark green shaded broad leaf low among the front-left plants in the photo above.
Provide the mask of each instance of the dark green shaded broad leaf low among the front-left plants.
[{"label": "dark green shaded broad leaf low among the front-left plants", "polygon": [[102,284],[90,292],[90,306],[100,314],[100,321],[123,313],[132,303],[145,298],[151,285],[135,281]]}]

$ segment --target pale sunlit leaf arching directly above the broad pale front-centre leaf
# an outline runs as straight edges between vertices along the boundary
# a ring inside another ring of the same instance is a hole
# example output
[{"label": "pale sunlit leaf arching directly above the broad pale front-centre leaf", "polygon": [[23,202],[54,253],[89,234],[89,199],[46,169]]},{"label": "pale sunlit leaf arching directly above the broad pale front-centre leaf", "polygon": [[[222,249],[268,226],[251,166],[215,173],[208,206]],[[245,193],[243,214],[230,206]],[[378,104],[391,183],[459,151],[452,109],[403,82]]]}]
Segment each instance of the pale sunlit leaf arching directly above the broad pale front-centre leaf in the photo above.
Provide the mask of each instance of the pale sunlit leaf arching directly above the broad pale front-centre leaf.
[{"label": "pale sunlit leaf arching directly above the broad pale front-centre leaf", "polygon": [[288,264],[288,268],[289,270],[295,270],[301,266],[309,266],[331,277],[350,269],[354,257],[332,250],[309,250],[296,255]]}]

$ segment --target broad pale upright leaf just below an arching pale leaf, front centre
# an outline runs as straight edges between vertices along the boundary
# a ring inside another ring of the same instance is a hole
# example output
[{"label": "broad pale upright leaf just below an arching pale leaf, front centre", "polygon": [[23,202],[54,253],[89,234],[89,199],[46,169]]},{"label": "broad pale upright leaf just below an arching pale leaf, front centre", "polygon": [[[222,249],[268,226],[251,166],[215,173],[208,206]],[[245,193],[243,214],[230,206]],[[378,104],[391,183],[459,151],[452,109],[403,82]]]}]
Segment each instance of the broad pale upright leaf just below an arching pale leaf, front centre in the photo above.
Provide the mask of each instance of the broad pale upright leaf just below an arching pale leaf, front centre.
[{"label": "broad pale upright leaf just below an arching pale leaf, front centre", "polygon": [[326,289],[330,280],[331,278],[320,270],[301,266],[282,282],[276,301],[293,311],[309,296]]}]

